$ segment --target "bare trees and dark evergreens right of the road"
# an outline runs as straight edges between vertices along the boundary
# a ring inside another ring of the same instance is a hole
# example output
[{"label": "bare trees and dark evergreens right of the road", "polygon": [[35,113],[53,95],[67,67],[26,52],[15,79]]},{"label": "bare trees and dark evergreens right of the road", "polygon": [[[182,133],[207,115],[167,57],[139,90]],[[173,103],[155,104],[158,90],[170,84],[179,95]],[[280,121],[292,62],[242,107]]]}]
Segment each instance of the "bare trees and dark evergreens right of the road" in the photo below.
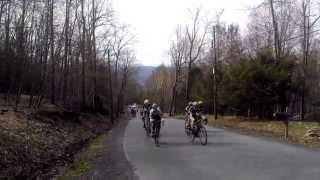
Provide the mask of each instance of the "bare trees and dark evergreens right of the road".
[{"label": "bare trees and dark evergreens right of the road", "polygon": [[317,7],[310,0],[262,1],[250,8],[246,30],[221,21],[223,11],[210,19],[193,9],[168,46],[171,64],[155,70],[145,96],[170,114],[201,100],[207,113],[272,118],[287,111],[310,119],[320,97]]}]

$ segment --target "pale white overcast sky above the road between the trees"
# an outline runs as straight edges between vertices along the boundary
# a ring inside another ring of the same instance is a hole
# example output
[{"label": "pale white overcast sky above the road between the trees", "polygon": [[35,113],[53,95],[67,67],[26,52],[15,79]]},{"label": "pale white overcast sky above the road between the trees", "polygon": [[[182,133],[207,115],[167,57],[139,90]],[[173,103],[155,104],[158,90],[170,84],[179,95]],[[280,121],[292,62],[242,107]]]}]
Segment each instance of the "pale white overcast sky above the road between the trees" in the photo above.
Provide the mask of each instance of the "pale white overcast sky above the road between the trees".
[{"label": "pale white overcast sky above the road between the trees", "polygon": [[[248,22],[248,8],[262,0],[114,0],[119,20],[132,26],[137,34],[138,63],[156,66],[168,62],[166,55],[177,24],[188,20],[188,9],[201,7],[214,15],[224,9],[222,20],[238,23],[241,29]],[[210,16],[210,14],[209,14]]]}]

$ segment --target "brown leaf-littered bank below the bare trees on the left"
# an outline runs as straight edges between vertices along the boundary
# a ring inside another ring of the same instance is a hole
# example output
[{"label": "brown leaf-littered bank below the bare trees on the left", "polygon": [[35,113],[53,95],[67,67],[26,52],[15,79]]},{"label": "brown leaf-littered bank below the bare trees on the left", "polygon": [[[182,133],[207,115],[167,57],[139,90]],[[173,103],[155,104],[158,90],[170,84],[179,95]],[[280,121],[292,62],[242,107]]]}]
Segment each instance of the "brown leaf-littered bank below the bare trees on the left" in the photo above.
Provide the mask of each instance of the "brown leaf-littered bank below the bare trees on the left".
[{"label": "brown leaf-littered bank below the bare trees on the left", "polygon": [[98,135],[106,116],[46,104],[37,111],[0,108],[0,179],[50,179]]}]

